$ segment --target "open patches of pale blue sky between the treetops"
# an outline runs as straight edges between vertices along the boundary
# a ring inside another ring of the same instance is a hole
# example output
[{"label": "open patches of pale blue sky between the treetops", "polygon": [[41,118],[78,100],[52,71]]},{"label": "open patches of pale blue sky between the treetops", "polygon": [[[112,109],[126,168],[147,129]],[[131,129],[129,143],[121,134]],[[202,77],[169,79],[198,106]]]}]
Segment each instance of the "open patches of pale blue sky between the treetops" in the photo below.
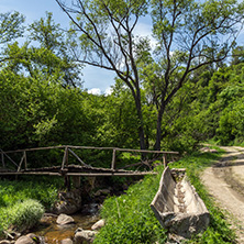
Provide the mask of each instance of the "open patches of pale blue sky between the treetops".
[{"label": "open patches of pale blue sky between the treetops", "polygon": [[[35,20],[45,18],[45,12],[53,12],[55,23],[62,27],[68,27],[69,19],[60,10],[55,0],[0,0],[0,12],[18,11],[25,16],[25,23],[31,24]],[[140,23],[137,32],[149,35],[151,25]],[[114,84],[114,73],[101,68],[86,66],[82,69],[84,88],[92,93],[108,93],[111,85]]]}]

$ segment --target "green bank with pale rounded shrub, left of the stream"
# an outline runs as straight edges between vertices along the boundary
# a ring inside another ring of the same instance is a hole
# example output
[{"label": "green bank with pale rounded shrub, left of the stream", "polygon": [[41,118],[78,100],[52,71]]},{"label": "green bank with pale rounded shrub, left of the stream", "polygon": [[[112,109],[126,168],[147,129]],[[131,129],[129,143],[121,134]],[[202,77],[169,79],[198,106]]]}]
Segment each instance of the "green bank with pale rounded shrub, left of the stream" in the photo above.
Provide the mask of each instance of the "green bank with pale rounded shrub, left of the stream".
[{"label": "green bank with pale rounded shrub, left of the stream", "polygon": [[32,228],[56,201],[57,189],[58,184],[42,177],[0,179],[0,236],[10,226],[20,232]]}]

